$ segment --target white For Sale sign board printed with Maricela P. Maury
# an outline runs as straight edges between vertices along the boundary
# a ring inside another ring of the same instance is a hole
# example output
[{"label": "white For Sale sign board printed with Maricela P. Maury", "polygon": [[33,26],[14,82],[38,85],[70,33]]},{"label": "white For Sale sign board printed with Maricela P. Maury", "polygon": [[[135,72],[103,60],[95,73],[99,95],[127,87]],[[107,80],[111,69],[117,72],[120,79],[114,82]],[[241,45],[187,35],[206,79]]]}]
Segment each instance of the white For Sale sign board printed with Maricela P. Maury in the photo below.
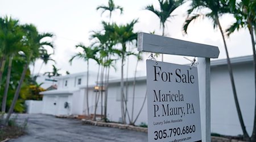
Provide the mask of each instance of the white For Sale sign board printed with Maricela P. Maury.
[{"label": "white For Sale sign board printed with Maricela P. Maury", "polygon": [[147,60],[148,141],[201,141],[197,68]]}]

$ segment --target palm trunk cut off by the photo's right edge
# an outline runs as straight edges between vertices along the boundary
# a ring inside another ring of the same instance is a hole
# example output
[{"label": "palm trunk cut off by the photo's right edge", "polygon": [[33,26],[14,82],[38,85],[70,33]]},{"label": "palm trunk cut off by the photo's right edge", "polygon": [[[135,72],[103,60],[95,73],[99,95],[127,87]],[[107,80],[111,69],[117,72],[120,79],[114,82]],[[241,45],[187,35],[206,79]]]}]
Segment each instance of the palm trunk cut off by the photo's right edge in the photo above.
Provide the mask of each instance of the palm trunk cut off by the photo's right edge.
[{"label": "palm trunk cut off by the photo's right edge", "polygon": [[251,135],[251,141],[256,140],[256,52],[255,52],[255,41],[254,41],[254,35],[253,35],[253,27],[248,20],[248,29],[251,35],[251,44],[253,45],[253,66],[254,66],[254,89],[255,89],[255,107],[254,107],[254,123],[253,123],[253,134]]}]

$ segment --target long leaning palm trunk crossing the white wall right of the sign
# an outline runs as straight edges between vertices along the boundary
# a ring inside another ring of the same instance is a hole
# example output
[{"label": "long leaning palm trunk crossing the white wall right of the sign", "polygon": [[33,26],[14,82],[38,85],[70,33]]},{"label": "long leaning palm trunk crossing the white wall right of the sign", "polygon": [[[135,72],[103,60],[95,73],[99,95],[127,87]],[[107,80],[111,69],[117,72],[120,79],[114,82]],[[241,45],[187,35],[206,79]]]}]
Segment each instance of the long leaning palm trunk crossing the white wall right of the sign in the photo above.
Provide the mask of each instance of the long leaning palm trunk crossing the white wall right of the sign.
[{"label": "long leaning palm trunk crossing the white wall right of the sign", "polygon": [[243,131],[243,137],[245,137],[245,139],[248,139],[249,135],[246,131],[245,123],[243,123],[242,112],[241,112],[240,105],[239,105],[238,98],[237,98],[237,91],[236,91],[236,86],[234,84],[233,70],[232,70],[230,59],[229,59],[228,48],[226,47],[225,36],[224,36],[223,31],[222,31],[221,24],[220,24],[220,21],[218,20],[218,18],[217,18],[217,24],[218,24],[218,27],[220,28],[221,36],[222,36],[222,39],[223,39],[223,42],[224,42],[224,47],[225,47],[225,52],[226,52],[226,60],[228,62],[229,76],[230,76],[230,81],[231,81],[231,85],[232,85],[234,101],[235,101],[236,108],[237,108],[238,118],[239,118],[241,128],[242,128],[242,131]]}]

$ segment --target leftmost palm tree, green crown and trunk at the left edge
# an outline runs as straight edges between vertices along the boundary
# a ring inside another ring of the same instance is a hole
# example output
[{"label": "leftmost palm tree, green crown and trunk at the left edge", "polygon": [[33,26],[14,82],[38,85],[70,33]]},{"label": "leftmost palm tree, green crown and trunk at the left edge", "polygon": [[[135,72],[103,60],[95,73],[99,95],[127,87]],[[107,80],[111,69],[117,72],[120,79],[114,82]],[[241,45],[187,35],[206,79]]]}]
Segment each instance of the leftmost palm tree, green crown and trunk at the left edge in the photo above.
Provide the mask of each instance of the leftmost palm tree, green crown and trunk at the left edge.
[{"label": "leftmost palm tree, green crown and trunk at the left edge", "polygon": [[[20,30],[19,21],[8,18],[7,16],[2,19],[0,18],[0,41],[2,41],[2,62],[0,69],[0,82],[2,80],[3,69],[5,68],[6,57],[9,59],[7,78],[5,91],[2,99],[2,112],[6,111],[6,99],[7,99],[7,91],[9,89],[10,83],[10,74],[11,74],[11,65],[13,62],[13,56],[16,55],[19,51],[22,51],[22,46],[20,45],[20,40],[22,39],[22,32]],[[1,87],[1,84],[0,84]]]}]

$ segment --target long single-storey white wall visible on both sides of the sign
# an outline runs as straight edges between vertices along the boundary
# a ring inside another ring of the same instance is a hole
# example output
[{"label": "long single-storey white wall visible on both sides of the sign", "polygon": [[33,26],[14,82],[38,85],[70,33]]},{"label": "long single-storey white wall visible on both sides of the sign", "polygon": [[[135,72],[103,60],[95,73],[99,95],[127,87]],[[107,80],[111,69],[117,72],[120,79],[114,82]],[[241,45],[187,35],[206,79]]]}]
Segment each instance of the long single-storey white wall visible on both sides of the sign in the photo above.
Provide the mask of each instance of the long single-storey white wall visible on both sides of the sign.
[{"label": "long single-storey white wall visible on both sides of the sign", "polygon": [[[240,103],[243,120],[246,130],[251,135],[254,120],[255,89],[252,63],[233,65],[234,80],[236,82],[238,101]],[[226,65],[214,66],[211,69],[211,132],[222,135],[242,134],[240,122],[238,120],[236,106],[230,78]],[[128,110],[131,114],[133,85],[130,82],[128,96]],[[144,93],[146,93],[146,80],[137,82],[135,94],[134,114],[141,108]],[[117,101],[120,94],[119,83],[109,86],[108,96],[108,118],[115,122],[121,121],[121,104]],[[130,115],[131,116],[131,115]],[[127,120],[128,122],[128,120]],[[136,124],[147,123],[147,101],[143,107],[142,114]]]}]

